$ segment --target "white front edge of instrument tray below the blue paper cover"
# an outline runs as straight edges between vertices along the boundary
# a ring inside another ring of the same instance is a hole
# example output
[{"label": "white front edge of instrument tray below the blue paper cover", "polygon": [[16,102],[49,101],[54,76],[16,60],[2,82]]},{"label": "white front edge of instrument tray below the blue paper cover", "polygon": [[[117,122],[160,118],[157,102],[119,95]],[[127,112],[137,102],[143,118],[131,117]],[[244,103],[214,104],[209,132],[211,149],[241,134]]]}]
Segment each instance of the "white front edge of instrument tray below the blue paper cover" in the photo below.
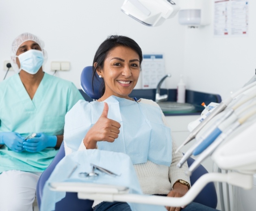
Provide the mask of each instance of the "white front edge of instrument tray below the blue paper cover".
[{"label": "white front edge of instrument tray below the blue paper cover", "polygon": [[101,193],[101,194],[127,194],[129,188],[118,185],[103,185],[95,183],[82,182],[52,182],[49,183],[53,191],[63,192],[83,192],[83,193]]}]

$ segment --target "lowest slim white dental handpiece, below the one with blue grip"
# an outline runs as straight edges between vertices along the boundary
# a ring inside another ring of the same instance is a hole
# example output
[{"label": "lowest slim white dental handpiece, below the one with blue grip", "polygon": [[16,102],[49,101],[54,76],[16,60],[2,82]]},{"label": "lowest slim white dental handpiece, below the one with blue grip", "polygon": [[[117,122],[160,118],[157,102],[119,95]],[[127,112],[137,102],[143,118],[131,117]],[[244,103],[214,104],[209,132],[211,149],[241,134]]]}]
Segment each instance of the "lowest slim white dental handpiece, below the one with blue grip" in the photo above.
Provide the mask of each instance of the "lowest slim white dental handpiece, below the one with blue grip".
[{"label": "lowest slim white dental handpiece, below the one with blue grip", "polygon": [[252,117],[256,114],[256,109],[253,108],[247,114],[245,114],[243,117],[241,117],[238,121],[234,122],[232,125],[230,125],[230,128],[226,131],[221,133],[221,135],[211,144],[189,167],[189,170],[187,170],[187,175],[191,175],[192,172],[200,165],[200,163],[206,159],[206,157],[213,154],[215,149],[227,138],[227,136],[230,135],[237,127],[245,123],[248,118]]}]

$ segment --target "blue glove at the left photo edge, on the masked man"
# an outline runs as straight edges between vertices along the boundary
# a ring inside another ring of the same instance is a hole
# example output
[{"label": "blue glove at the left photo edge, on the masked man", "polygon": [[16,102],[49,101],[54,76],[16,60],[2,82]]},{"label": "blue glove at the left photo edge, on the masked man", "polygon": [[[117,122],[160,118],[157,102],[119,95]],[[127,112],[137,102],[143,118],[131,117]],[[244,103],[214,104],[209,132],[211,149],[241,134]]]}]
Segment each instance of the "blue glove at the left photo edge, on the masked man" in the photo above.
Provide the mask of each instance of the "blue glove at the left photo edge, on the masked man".
[{"label": "blue glove at the left photo edge, on the masked man", "polygon": [[5,144],[12,151],[19,153],[23,151],[24,138],[20,133],[16,132],[1,132],[0,144]]}]

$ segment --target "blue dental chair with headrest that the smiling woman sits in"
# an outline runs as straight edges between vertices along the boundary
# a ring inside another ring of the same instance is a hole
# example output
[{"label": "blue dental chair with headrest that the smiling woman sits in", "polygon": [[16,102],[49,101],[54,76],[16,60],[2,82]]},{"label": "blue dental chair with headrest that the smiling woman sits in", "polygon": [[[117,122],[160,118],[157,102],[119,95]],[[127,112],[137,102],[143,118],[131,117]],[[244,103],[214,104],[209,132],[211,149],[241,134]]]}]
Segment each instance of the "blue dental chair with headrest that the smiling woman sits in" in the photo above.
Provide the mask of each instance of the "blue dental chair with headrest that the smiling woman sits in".
[{"label": "blue dental chair with headrest that the smiling woman sits in", "polygon": [[[85,67],[82,70],[81,88],[92,99],[100,98],[100,86],[102,82],[102,78],[94,78],[94,86],[92,87],[92,66]],[[36,190],[39,209],[41,205],[41,197],[43,196],[43,186],[50,177],[50,174],[54,170],[56,164],[58,164],[64,156],[65,150],[64,144],[62,143],[59,152],[54,157],[52,163],[48,166],[48,168],[46,168],[46,170],[41,174],[41,177],[39,178]],[[188,165],[190,166],[193,161],[194,159],[190,157],[187,160]],[[208,173],[207,170],[202,165],[200,165],[190,177],[191,185],[193,185],[199,177],[206,173]],[[217,207],[217,193],[214,183],[208,183],[193,201],[215,209]],[[92,200],[78,199],[77,193],[67,192],[65,198],[56,203],[55,211],[92,211],[92,204]]]}]

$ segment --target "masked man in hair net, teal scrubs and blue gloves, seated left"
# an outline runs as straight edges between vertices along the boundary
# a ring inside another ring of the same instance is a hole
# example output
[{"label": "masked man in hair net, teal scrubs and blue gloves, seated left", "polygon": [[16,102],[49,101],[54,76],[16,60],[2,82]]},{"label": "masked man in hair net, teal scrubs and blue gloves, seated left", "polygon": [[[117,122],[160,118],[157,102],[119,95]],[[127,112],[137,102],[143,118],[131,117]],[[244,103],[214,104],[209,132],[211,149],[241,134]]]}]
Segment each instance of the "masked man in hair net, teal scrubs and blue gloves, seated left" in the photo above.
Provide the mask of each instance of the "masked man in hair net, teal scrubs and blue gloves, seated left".
[{"label": "masked man in hair net, teal scrubs and blue gloves, seated left", "polygon": [[33,210],[37,181],[63,141],[65,114],[83,99],[72,82],[43,72],[43,48],[34,34],[16,37],[18,73],[0,82],[0,211]]}]

